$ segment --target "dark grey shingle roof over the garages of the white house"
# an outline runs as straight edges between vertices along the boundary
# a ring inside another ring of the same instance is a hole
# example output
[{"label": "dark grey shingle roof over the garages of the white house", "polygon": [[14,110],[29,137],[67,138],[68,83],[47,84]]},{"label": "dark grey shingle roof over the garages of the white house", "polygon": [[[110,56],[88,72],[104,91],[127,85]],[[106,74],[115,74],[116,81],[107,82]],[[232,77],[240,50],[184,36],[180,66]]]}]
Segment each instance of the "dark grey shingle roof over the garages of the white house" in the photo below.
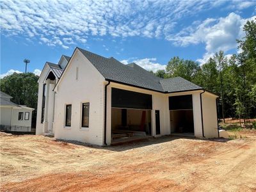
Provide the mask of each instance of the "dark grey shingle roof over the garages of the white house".
[{"label": "dark grey shingle roof over the garages of the white house", "polygon": [[98,54],[77,47],[86,58],[94,65],[102,76],[109,81],[129,84],[157,92],[182,92],[188,90],[202,90],[200,86],[193,84],[182,77],[163,79],[136,65],[130,63],[124,65],[115,58],[104,58]]}]

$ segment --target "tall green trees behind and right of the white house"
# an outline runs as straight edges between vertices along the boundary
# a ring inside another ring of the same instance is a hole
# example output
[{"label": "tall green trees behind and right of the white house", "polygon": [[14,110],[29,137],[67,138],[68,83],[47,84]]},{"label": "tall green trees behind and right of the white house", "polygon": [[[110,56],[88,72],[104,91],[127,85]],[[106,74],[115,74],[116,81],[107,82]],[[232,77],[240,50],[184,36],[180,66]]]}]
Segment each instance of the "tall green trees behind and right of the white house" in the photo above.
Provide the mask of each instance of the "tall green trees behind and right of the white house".
[{"label": "tall green trees behind and right of the white house", "polygon": [[162,78],[183,77],[216,93],[219,99],[219,115],[223,118],[239,118],[245,127],[256,116],[256,20],[243,27],[245,36],[237,40],[239,54],[230,58],[223,51],[216,52],[203,65],[195,61],[173,57],[165,70],[157,70]]}]

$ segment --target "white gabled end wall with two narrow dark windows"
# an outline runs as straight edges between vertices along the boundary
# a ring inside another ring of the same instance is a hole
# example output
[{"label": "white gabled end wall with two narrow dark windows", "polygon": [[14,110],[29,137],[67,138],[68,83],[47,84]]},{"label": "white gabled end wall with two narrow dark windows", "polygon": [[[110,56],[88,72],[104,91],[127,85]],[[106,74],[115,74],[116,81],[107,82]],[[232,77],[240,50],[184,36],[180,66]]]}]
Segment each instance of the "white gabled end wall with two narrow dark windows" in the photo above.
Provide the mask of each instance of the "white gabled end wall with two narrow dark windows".
[{"label": "white gabled end wall with two narrow dark windows", "polygon": [[[80,51],[72,56],[55,91],[54,137],[104,145],[104,78]],[[83,102],[90,102],[88,128],[81,127]],[[72,104],[70,127],[65,127],[66,104]]]}]

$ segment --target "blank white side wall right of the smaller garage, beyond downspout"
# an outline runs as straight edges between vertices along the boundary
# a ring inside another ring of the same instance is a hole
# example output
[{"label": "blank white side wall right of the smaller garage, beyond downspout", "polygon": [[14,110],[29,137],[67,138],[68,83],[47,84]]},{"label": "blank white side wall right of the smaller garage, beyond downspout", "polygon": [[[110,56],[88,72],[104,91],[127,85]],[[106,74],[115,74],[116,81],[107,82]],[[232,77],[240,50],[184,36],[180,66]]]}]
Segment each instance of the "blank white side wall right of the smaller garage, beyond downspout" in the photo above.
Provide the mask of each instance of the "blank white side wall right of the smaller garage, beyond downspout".
[{"label": "blank white side wall right of the smaller garage, beyond downspout", "polygon": [[218,138],[218,118],[216,111],[216,96],[211,93],[202,94],[202,108],[205,138]]}]

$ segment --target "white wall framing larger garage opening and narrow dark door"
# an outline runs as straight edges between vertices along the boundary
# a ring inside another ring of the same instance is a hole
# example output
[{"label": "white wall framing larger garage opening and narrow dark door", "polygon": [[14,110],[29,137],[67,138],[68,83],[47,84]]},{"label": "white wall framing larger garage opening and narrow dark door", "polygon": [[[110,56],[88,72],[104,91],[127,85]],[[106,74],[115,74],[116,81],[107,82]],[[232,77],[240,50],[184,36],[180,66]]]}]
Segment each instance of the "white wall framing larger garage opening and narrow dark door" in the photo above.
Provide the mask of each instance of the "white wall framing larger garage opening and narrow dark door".
[{"label": "white wall framing larger garage opening and narrow dark door", "polygon": [[[108,145],[111,144],[111,88],[120,88],[129,90],[132,92],[147,93],[152,95],[152,112],[151,112],[151,127],[152,136],[163,136],[170,134],[170,113],[168,107],[168,95],[159,92],[153,92],[150,90],[143,90],[141,88],[135,88],[124,84],[110,83],[107,87],[107,130],[106,130],[106,142]],[[160,111],[160,132],[161,134],[156,135],[156,124],[155,124],[155,110]]]}]

